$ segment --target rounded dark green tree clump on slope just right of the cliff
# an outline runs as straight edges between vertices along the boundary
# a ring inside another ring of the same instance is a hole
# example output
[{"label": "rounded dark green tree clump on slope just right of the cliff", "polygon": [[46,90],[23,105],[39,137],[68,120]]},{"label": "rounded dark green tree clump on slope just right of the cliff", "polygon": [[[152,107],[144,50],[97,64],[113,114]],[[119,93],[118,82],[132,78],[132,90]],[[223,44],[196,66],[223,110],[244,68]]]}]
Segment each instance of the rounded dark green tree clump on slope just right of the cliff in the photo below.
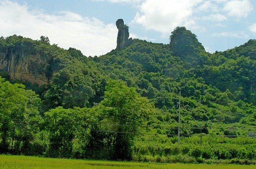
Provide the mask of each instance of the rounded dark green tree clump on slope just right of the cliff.
[{"label": "rounded dark green tree clump on slope just right of the cliff", "polygon": [[[45,93],[47,108],[63,106],[64,108],[85,107],[94,95],[91,78],[85,77],[81,69],[61,69],[54,74],[52,87]],[[46,108],[46,109],[47,109]]]}]

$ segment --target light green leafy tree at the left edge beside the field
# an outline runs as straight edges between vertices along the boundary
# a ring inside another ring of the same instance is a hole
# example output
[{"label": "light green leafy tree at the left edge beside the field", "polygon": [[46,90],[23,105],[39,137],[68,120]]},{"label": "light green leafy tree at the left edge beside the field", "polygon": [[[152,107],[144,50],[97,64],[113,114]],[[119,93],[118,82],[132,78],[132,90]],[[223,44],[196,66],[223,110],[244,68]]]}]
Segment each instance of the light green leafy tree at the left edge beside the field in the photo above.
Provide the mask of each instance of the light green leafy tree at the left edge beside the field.
[{"label": "light green leafy tree at the left edge beside the field", "polygon": [[[29,148],[38,122],[40,99],[21,84],[0,77],[0,151],[22,153]],[[31,123],[30,123],[31,122]],[[11,149],[9,149],[11,147]]]}]

